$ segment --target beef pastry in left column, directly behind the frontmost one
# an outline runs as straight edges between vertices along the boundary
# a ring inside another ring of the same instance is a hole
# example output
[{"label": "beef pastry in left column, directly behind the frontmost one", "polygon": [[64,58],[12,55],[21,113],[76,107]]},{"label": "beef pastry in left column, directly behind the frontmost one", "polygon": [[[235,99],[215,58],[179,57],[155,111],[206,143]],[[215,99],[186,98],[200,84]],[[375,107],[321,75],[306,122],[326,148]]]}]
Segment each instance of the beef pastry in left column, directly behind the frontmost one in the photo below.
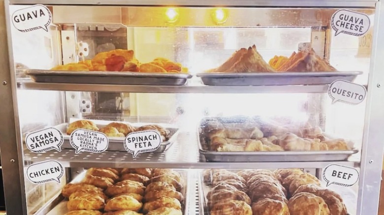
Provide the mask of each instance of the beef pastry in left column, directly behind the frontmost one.
[{"label": "beef pastry in left column, directly behind the frontmost one", "polygon": [[251,204],[251,199],[245,192],[240,190],[232,191],[222,189],[211,194],[208,199],[208,205],[212,208],[214,205],[228,200],[238,200]]}]

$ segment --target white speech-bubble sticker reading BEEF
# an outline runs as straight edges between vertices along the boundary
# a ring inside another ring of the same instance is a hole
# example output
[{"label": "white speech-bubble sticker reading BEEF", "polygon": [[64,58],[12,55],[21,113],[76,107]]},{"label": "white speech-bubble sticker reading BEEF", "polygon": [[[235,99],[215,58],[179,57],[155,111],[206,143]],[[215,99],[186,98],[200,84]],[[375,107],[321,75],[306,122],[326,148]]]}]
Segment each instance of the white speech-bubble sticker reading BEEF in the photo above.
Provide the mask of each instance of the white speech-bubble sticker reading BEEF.
[{"label": "white speech-bubble sticker reading BEEF", "polygon": [[325,167],[322,177],[327,182],[327,187],[331,184],[351,187],[358,181],[359,172],[352,167],[330,164]]}]

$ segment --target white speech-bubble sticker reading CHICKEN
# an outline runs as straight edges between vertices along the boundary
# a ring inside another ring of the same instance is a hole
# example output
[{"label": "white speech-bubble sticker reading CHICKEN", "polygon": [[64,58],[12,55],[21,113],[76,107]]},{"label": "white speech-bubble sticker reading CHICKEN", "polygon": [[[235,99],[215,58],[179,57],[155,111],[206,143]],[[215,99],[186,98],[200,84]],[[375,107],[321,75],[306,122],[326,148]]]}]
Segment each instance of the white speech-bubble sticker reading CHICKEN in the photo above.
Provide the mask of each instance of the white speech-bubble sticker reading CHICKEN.
[{"label": "white speech-bubble sticker reading CHICKEN", "polygon": [[62,164],[53,160],[34,163],[27,168],[27,177],[34,184],[43,184],[50,181],[60,183],[63,174]]}]

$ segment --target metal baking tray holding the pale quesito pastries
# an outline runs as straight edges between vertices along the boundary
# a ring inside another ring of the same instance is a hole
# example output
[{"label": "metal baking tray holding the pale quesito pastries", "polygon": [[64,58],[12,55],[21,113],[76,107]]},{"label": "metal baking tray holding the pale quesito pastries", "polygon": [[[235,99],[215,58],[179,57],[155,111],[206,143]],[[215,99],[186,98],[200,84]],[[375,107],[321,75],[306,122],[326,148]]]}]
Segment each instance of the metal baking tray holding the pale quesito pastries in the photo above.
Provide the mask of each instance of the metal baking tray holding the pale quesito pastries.
[{"label": "metal baking tray holding the pale quesito pastries", "polygon": [[[217,119],[228,122],[229,119],[205,118],[201,120],[201,126],[210,120]],[[243,120],[243,119],[241,119]],[[234,121],[236,121],[234,119]],[[232,122],[234,122],[232,121]],[[358,149],[346,151],[276,151],[276,152],[217,152],[207,150],[207,138],[198,129],[199,153],[210,162],[286,162],[286,161],[346,161]]]}]

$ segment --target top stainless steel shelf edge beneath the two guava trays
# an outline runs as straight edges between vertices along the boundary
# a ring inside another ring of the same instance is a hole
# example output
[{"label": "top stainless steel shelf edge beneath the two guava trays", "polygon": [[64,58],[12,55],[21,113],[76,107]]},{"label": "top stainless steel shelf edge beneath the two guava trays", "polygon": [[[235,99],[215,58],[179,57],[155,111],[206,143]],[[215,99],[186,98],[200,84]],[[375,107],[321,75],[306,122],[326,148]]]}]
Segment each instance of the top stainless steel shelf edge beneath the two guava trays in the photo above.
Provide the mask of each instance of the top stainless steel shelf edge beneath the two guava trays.
[{"label": "top stainless steel shelf edge beneath the two guava trays", "polygon": [[18,82],[19,89],[132,92],[132,93],[321,93],[327,92],[328,85],[282,85],[282,86],[148,86],[119,84],[75,84],[75,83],[36,83]]}]

